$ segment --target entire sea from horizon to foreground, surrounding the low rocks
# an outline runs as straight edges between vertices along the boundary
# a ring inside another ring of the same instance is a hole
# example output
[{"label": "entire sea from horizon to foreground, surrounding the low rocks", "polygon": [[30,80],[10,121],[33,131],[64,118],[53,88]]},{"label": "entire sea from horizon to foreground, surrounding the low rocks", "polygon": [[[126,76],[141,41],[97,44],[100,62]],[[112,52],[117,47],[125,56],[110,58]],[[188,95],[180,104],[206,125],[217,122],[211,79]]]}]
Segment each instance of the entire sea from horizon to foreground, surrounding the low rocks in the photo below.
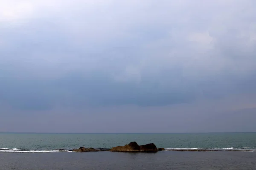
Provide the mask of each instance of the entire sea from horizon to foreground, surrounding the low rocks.
[{"label": "entire sea from horizon to foreground, surrounding the low rocks", "polygon": [[[109,149],[134,141],[166,150],[70,151],[81,146]],[[158,169],[256,170],[256,133],[0,133],[0,170]]]}]

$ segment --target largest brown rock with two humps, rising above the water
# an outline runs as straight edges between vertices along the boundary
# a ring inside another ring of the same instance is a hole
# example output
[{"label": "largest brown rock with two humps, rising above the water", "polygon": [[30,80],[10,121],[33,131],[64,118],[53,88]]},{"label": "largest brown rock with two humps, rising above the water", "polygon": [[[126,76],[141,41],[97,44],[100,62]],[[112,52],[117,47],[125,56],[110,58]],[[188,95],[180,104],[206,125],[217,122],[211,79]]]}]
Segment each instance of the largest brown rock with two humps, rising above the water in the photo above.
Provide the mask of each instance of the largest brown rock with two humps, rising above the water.
[{"label": "largest brown rock with two humps, rising above the water", "polygon": [[157,152],[158,149],[155,144],[138,145],[137,142],[131,142],[125,146],[112,147],[112,152]]}]

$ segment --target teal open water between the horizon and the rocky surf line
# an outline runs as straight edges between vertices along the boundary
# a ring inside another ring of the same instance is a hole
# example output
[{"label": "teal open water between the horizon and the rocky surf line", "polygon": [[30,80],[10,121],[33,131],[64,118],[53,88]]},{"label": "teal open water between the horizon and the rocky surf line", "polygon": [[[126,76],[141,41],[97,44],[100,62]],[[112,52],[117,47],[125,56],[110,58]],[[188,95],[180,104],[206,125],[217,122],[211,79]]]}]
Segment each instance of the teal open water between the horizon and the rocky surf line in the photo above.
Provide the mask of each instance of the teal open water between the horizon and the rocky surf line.
[{"label": "teal open water between the horizon and the rocky surf line", "polygon": [[111,148],[132,141],[164,148],[256,150],[256,133],[0,133],[0,152]]}]

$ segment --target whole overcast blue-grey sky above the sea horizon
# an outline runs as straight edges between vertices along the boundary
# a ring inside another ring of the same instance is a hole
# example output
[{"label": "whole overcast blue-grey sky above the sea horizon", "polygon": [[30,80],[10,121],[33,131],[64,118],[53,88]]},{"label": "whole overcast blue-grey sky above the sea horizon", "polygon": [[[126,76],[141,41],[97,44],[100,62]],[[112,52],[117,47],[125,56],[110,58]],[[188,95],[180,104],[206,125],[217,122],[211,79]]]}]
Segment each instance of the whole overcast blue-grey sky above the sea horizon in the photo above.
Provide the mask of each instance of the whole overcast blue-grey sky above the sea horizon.
[{"label": "whole overcast blue-grey sky above the sea horizon", "polygon": [[255,0],[0,0],[0,132],[256,132]]}]

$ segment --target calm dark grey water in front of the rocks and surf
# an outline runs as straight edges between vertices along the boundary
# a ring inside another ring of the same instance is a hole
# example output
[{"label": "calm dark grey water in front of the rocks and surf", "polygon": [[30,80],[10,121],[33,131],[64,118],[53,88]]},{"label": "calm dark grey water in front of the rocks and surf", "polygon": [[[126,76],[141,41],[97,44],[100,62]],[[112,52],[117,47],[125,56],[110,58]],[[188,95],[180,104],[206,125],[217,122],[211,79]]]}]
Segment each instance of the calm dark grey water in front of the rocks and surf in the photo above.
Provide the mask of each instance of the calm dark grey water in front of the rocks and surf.
[{"label": "calm dark grey water in front of the rocks and surf", "polygon": [[255,170],[256,152],[0,153],[0,170]]}]

